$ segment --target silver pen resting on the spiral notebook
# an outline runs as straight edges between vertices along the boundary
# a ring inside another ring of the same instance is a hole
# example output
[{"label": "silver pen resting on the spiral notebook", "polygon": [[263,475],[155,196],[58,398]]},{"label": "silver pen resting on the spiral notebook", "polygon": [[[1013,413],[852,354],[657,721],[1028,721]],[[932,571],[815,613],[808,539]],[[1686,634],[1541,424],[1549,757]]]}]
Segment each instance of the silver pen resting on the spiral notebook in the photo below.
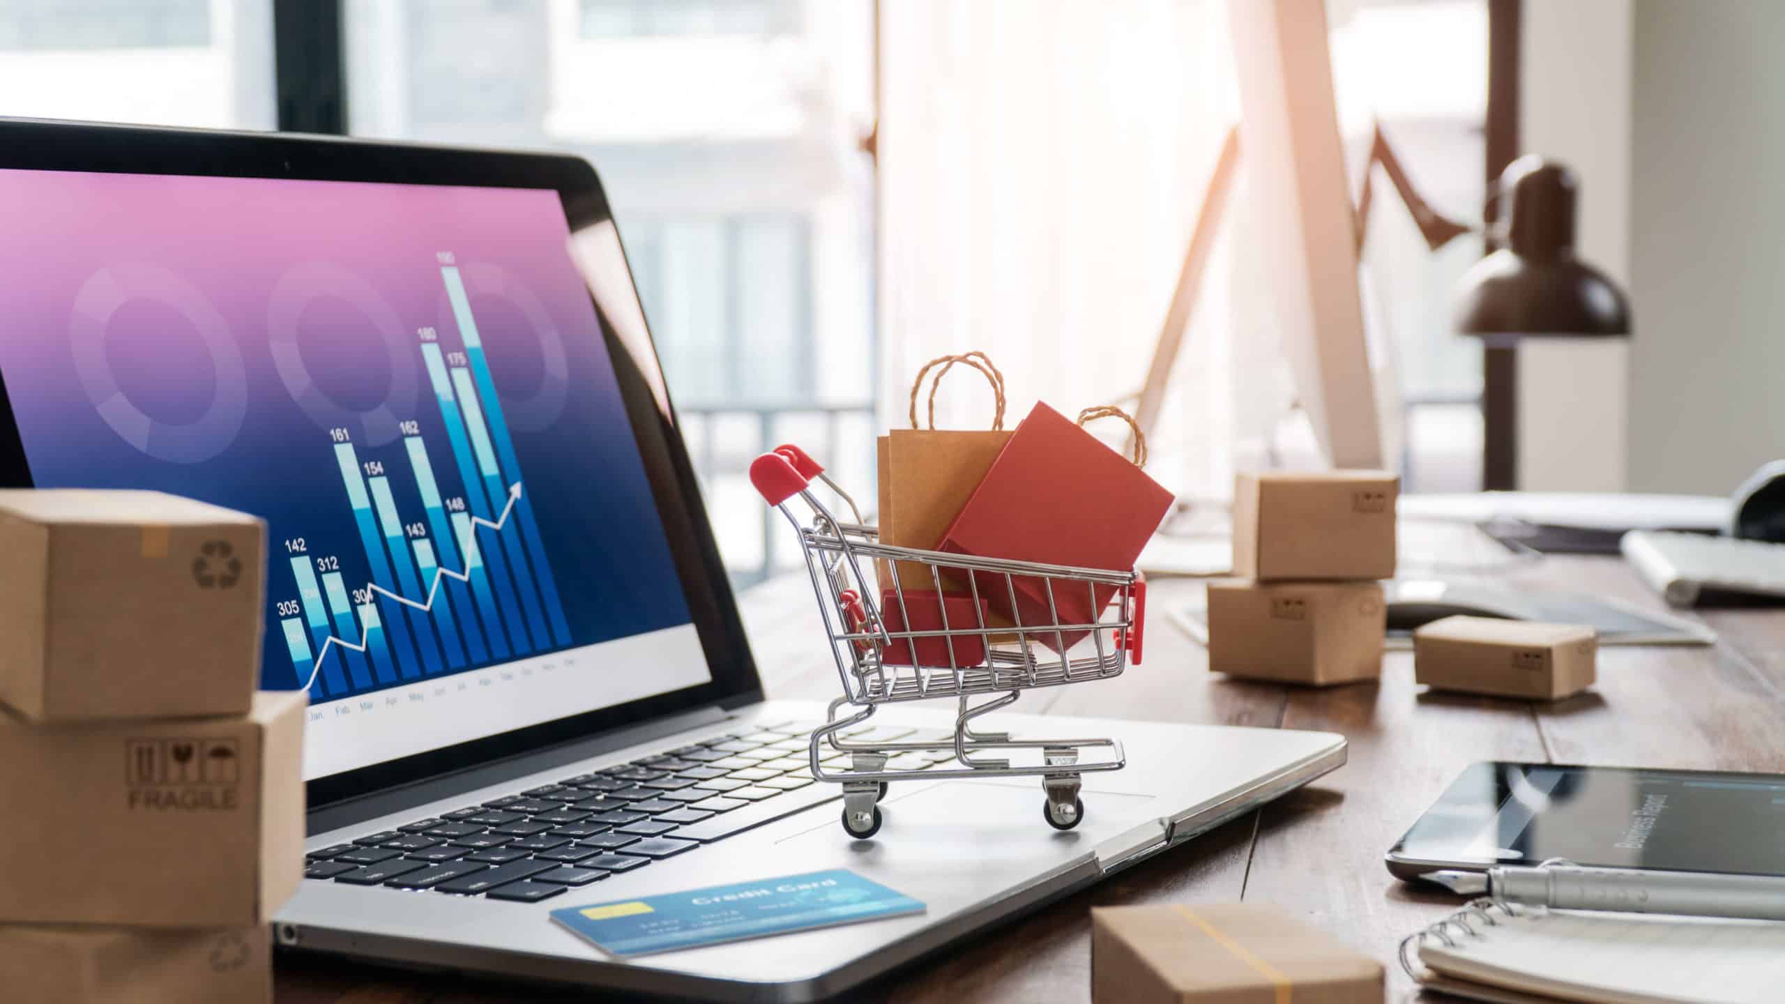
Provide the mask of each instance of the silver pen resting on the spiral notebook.
[{"label": "silver pen resting on the spiral notebook", "polygon": [[1785,920],[1785,877],[1778,875],[1587,868],[1546,861],[1535,868],[1507,865],[1485,874],[1430,872],[1424,877],[1455,893],[1487,893],[1499,904]]}]

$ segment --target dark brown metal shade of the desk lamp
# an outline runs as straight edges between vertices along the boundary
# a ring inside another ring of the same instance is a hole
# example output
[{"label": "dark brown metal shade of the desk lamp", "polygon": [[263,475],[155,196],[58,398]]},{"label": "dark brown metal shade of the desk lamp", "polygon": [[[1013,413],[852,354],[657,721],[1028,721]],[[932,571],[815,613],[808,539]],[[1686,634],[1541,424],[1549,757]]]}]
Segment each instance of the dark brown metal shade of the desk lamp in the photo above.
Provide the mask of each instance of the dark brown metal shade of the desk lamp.
[{"label": "dark brown metal shade of the desk lamp", "polygon": [[1624,291],[1574,257],[1574,173],[1542,157],[1519,157],[1499,188],[1510,200],[1507,247],[1464,275],[1457,330],[1489,345],[1532,336],[1628,336]]}]

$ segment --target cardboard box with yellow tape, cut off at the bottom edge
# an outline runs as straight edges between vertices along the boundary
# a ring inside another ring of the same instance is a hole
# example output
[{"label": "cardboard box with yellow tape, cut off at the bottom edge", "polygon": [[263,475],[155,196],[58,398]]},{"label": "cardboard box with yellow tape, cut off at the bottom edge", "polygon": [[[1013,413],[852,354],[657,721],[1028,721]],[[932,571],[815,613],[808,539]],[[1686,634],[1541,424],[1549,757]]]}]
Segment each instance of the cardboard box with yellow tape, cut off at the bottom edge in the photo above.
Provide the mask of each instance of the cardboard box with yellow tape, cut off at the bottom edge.
[{"label": "cardboard box with yellow tape, cut off at the bottom edge", "polygon": [[1269,904],[1091,909],[1092,1004],[1382,1004],[1380,961]]}]

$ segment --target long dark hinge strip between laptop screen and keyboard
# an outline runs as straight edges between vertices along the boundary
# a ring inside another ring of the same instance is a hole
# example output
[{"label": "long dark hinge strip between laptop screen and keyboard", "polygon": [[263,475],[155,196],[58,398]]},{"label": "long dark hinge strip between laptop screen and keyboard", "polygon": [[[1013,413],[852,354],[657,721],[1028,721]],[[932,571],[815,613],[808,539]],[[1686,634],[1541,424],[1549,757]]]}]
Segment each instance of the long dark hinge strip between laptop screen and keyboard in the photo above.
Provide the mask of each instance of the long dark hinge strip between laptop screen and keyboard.
[{"label": "long dark hinge strip between laptop screen and keyboard", "polygon": [[543,750],[532,750],[505,759],[455,770],[452,774],[441,774],[437,777],[412,781],[398,788],[371,791],[368,795],[348,799],[345,802],[336,802],[321,809],[311,811],[309,816],[305,818],[305,827],[311,834],[328,832],[332,829],[353,825],[357,822],[377,818],[387,813],[400,813],[403,809],[425,806],[428,802],[437,802],[441,799],[452,799],[453,795],[462,795],[466,791],[475,791],[478,788],[487,788],[491,784],[502,784],[511,777],[525,777],[539,770],[552,770],[553,766],[564,766],[569,763],[578,763],[594,756],[602,756],[603,752],[609,750],[648,743],[653,740],[673,736],[677,732],[685,732],[689,729],[712,725],[732,715],[723,707],[707,706],[707,707],[696,707],[693,711],[684,711],[680,715],[653,718],[639,725],[614,729],[610,732],[602,732],[600,736],[569,740],[566,743],[546,747]]}]

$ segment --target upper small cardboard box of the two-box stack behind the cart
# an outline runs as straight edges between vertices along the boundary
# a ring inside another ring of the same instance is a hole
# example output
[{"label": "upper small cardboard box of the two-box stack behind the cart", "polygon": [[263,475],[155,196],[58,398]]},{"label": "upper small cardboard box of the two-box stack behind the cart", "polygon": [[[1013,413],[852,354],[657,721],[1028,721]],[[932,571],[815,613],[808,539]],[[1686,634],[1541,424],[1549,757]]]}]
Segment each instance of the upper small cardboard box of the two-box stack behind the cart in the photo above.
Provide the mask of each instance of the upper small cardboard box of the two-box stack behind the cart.
[{"label": "upper small cardboard box of the two-box stack behind the cart", "polygon": [[1241,579],[1392,579],[1401,479],[1380,470],[1264,472],[1233,479]]}]

